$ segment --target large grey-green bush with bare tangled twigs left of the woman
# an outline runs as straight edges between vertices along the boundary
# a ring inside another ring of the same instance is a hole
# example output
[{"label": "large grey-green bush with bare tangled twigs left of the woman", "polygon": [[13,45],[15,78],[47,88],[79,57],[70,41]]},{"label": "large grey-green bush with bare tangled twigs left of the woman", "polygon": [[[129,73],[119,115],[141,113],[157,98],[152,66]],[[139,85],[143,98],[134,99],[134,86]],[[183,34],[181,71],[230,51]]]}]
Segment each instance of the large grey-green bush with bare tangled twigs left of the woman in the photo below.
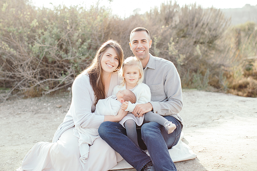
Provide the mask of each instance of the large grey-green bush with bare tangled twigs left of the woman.
[{"label": "large grey-green bush with bare tangled twigs left of the woman", "polygon": [[14,90],[37,96],[71,86],[109,37],[112,16],[97,5],[36,10],[6,0],[0,7],[0,86],[10,88],[4,100]]}]

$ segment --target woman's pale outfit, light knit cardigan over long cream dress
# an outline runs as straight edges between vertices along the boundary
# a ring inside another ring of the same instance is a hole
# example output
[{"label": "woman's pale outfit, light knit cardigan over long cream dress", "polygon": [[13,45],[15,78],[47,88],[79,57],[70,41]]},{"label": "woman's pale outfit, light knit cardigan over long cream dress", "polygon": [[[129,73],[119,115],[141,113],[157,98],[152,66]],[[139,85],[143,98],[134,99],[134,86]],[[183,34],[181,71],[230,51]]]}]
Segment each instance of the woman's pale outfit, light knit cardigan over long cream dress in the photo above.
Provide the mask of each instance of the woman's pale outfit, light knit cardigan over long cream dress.
[{"label": "woman's pale outfit, light knit cardigan over long cream dress", "polygon": [[[108,96],[118,85],[118,74],[113,73]],[[84,168],[80,163],[79,138],[74,136],[74,125],[82,128],[99,128],[104,116],[94,113],[94,92],[89,76],[76,77],[72,85],[72,102],[63,123],[58,127],[53,142],[38,142],[24,157],[17,171],[106,171],[114,167],[122,157],[102,138],[96,138],[89,147]]]}]

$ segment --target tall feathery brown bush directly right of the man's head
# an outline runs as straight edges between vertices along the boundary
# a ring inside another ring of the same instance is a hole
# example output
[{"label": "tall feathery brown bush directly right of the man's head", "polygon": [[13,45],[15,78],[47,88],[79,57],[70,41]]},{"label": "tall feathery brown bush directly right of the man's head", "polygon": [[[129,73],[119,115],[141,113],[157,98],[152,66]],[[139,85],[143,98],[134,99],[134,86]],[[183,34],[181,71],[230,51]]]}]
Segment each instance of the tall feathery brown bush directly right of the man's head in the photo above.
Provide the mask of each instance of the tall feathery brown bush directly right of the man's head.
[{"label": "tall feathery brown bush directly right of the man's head", "polygon": [[224,51],[218,41],[229,26],[229,19],[220,10],[202,9],[195,4],[179,7],[170,1],[142,18],[153,40],[150,52],[176,65],[182,87],[204,89],[211,78],[220,79],[216,52]]}]

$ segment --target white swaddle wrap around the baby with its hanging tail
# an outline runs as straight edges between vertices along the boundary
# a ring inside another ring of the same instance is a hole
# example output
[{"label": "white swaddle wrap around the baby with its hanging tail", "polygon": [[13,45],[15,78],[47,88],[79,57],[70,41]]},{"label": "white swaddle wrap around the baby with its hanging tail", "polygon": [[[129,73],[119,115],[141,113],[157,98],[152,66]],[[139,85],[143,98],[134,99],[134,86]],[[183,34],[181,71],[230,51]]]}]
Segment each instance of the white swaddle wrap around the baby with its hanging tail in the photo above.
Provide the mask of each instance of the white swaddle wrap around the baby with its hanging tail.
[{"label": "white swaddle wrap around the baby with its hanging tail", "polygon": [[[106,99],[98,100],[96,104],[95,115],[115,116],[119,112],[122,103],[116,100],[116,96],[110,96]],[[99,138],[98,128],[81,128],[73,129],[73,135],[79,138],[80,164],[84,169],[84,164],[88,158],[89,144],[92,145],[96,138]]]}]

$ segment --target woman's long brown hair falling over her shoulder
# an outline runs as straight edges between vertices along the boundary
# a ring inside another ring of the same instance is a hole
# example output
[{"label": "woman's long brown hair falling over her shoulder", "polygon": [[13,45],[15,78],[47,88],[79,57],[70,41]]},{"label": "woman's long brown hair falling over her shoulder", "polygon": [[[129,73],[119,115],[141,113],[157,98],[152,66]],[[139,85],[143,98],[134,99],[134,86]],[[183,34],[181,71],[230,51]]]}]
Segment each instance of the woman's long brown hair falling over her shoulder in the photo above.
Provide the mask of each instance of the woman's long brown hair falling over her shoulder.
[{"label": "woman's long brown hair falling over her shoulder", "polygon": [[[115,40],[107,40],[105,43],[103,43],[102,46],[96,52],[95,58],[93,59],[92,63],[89,65],[89,67],[85,69],[89,74],[90,84],[93,87],[94,93],[96,95],[96,103],[100,99],[105,99],[107,95],[105,93],[105,85],[102,78],[103,74],[101,67],[101,59],[102,55],[108,48],[113,48],[117,53],[119,65],[113,72],[119,71],[123,63],[124,55],[120,44]],[[96,105],[96,103],[94,105]]]}]

